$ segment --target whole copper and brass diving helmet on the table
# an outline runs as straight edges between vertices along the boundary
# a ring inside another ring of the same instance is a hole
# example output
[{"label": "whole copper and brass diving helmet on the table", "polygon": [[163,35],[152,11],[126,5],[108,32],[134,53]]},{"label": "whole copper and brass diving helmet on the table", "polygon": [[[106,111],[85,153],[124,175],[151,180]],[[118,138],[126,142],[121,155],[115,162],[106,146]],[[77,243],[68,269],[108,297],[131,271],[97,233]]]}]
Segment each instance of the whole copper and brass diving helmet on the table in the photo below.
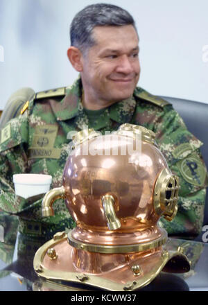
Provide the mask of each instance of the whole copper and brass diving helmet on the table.
[{"label": "whole copper and brass diving helmet on the table", "polygon": [[[58,232],[35,254],[34,268],[46,279],[81,282],[107,290],[135,290],[161,270],[187,272],[180,251],[165,250],[161,216],[177,213],[178,177],[171,173],[155,133],[123,124],[111,134],[86,129],[70,143],[62,186],[42,202],[53,216],[53,202],[64,198],[76,228]],[[173,260],[174,258],[174,260]]]}]

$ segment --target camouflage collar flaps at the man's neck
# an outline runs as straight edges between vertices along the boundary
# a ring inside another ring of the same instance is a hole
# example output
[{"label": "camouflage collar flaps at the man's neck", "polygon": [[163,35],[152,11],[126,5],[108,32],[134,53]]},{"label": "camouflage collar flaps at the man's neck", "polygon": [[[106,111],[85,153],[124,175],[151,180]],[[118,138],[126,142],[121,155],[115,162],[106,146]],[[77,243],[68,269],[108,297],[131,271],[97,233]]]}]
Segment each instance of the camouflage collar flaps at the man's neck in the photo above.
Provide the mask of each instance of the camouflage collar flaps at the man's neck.
[{"label": "camouflage collar flaps at the man's neck", "polygon": [[[83,125],[88,125],[89,120],[81,103],[83,86],[80,76],[72,86],[66,88],[66,95],[58,103],[59,109],[56,112],[58,121],[65,121],[75,118],[75,125],[78,129],[82,129]],[[134,96],[115,103],[106,108],[105,118],[98,124],[96,130],[104,128],[110,119],[117,123],[128,123],[132,120],[135,112],[136,101]]]}]

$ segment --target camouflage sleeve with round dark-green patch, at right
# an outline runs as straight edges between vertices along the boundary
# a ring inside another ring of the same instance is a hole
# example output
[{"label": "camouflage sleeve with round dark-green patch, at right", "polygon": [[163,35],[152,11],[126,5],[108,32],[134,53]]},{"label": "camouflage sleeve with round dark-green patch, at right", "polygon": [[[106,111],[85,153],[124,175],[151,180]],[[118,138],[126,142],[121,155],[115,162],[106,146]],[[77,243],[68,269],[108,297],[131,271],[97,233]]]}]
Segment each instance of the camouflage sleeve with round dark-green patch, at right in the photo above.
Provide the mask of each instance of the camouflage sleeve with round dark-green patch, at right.
[{"label": "camouflage sleeve with round dark-green patch, at right", "polygon": [[202,232],[208,185],[207,168],[200,153],[202,142],[187,130],[171,105],[159,113],[153,131],[169,168],[180,179],[177,215],[171,222],[161,218],[159,225],[169,235],[193,238]]}]

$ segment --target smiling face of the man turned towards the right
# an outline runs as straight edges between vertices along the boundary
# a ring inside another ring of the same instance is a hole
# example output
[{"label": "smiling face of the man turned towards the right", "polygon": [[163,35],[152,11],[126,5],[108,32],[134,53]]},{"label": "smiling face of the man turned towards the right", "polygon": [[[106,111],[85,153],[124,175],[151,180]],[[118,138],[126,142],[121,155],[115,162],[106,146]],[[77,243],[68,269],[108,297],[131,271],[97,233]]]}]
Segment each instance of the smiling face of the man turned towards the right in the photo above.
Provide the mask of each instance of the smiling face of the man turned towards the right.
[{"label": "smiling face of the man turned towards the right", "polygon": [[83,56],[81,77],[88,98],[103,105],[129,98],[139,80],[139,40],[133,26],[97,26],[96,42]]}]

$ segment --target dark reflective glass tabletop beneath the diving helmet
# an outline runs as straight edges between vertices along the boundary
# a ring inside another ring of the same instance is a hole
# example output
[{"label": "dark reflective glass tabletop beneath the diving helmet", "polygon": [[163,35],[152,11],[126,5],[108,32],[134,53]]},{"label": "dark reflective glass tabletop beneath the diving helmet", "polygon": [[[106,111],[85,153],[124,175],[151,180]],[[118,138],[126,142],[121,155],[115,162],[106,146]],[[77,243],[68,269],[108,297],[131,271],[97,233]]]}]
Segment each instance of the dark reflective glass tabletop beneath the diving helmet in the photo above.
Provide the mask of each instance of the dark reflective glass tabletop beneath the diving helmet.
[{"label": "dark reflective glass tabletop beneath the diving helmet", "polygon": [[[71,282],[51,281],[38,277],[33,269],[35,252],[46,243],[44,239],[18,232],[16,216],[6,216],[0,224],[0,290],[1,291],[96,291],[98,288]],[[208,291],[208,243],[168,238],[167,247],[182,247],[191,261],[191,270],[184,274],[161,272],[141,290]],[[168,283],[171,283],[168,286]]]}]

